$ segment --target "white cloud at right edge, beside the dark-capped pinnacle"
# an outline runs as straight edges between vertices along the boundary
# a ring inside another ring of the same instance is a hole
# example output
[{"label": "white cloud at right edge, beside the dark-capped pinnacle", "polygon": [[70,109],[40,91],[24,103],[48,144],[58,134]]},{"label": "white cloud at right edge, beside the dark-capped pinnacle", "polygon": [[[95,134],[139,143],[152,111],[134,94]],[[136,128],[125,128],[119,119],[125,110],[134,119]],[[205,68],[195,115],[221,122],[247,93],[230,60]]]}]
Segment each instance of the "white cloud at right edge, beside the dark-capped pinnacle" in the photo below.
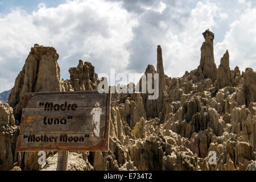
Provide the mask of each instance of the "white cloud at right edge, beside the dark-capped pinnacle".
[{"label": "white cloud at right edge, beside the dark-capped pinnacle", "polygon": [[[245,68],[256,68],[256,9],[248,8],[230,24],[230,30],[226,33],[225,39],[217,43],[215,48],[218,60],[223,56],[225,50],[229,50],[230,67],[236,65],[240,71]],[[219,63],[219,62],[218,62]]]}]

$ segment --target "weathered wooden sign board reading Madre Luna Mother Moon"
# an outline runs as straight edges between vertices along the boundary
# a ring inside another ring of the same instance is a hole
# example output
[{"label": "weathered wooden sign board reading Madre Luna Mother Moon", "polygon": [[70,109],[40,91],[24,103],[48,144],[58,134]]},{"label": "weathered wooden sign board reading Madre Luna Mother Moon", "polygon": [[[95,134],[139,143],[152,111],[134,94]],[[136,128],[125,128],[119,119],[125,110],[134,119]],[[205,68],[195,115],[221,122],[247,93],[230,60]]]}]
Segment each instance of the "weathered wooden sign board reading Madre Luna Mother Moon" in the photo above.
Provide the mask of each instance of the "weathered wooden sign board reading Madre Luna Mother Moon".
[{"label": "weathered wooden sign board reading Madre Luna Mother Moon", "polygon": [[18,151],[108,151],[110,97],[97,91],[26,94]]}]

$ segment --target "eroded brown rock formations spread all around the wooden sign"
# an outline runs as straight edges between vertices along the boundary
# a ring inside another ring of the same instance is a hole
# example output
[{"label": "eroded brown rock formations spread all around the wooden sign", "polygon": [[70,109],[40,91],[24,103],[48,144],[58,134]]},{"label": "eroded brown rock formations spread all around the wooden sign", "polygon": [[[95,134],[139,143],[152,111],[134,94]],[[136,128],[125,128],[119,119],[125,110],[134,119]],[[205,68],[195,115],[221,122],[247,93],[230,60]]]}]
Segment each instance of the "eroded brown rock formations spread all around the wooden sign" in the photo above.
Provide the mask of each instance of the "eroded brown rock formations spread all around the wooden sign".
[{"label": "eroded brown rock formations spread all around the wooden sign", "polygon": [[[251,68],[231,70],[228,51],[217,69],[214,34],[207,30],[203,35],[199,67],[180,78],[164,75],[158,46],[157,68],[148,65],[145,73],[159,73],[159,98],[112,94],[109,151],[72,152],[70,170],[255,169],[256,73]],[[44,166],[37,164],[36,153],[16,152],[25,92],[97,89],[100,81],[93,65],[81,60],[69,69],[70,80],[60,80],[58,57],[54,48],[31,48],[9,104],[0,105],[0,146],[5,146],[0,169],[56,168],[55,152],[48,154]],[[216,164],[209,163],[210,151],[216,152]]]}]

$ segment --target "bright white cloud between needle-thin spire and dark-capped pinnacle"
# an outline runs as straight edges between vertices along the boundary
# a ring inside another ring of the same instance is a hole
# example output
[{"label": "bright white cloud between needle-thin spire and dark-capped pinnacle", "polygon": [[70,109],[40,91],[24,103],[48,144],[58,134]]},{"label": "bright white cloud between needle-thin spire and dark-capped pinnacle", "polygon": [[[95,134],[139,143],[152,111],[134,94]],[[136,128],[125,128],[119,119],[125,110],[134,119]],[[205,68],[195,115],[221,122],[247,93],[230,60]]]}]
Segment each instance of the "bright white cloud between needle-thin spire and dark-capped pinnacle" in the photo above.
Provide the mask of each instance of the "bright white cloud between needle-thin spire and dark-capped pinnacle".
[{"label": "bright white cloud between needle-thin spire and dark-capped pinnacle", "polygon": [[169,76],[183,76],[185,71],[198,67],[200,48],[204,42],[202,33],[205,29],[216,26],[214,16],[217,16],[218,11],[214,3],[198,2],[184,22],[183,31],[177,35],[170,32],[171,40],[163,41],[164,68]]}]

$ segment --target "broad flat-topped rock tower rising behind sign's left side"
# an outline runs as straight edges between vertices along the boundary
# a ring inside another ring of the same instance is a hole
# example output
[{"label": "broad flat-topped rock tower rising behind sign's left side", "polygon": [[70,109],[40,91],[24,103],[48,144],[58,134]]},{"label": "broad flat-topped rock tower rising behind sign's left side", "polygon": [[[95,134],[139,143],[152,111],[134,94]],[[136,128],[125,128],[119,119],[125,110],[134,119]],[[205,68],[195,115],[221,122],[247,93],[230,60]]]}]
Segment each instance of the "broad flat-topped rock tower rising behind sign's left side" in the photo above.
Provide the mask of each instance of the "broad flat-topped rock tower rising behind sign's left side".
[{"label": "broad flat-topped rock tower rising behind sign's left side", "polygon": [[60,91],[60,67],[57,64],[55,48],[35,44],[25,61],[22,71],[16,77],[8,103],[14,110],[15,119],[20,119],[26,92]]}]

